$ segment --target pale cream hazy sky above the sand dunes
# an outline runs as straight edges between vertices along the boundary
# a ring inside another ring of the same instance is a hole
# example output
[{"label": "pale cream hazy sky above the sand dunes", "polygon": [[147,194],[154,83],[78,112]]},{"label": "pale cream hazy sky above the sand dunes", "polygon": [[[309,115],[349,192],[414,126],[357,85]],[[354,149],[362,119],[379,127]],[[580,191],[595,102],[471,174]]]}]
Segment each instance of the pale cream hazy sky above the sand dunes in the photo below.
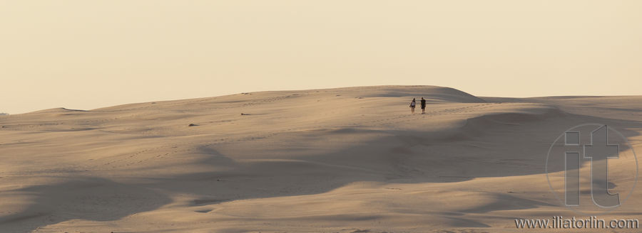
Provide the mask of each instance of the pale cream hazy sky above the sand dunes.
[{"label": "pale cream hazy sky above the sand dunes", "polygon": [[0,112],[360,85],[642,94],[642,1],[0,0]]}]

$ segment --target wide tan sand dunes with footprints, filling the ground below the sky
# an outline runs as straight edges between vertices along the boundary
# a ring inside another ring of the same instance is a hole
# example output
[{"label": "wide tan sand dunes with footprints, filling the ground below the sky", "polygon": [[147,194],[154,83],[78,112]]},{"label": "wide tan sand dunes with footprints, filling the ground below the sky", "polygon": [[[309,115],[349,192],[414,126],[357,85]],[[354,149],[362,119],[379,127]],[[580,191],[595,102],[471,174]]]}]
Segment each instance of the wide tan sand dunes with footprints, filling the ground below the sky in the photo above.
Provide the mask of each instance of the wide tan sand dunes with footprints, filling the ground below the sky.
[{"label": "wide tan sand dunes with footprints, filling the ground below the sky", "polygon": [[638,100],[381,86],[0,116],[0,229],[512,232],[573,215],[546,183],[550,143],[600,122],[638,148]]}]

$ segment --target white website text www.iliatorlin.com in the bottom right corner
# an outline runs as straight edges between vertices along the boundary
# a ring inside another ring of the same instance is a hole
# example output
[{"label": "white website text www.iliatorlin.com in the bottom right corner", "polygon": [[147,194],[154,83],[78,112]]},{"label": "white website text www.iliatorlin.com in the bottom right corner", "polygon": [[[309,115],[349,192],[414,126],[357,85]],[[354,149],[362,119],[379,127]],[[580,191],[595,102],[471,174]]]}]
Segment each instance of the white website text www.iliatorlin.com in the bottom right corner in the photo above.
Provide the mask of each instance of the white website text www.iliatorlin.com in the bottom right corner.
[{"label": "white website text www.iliatorlin.com in the bottom right corner", "polygon": [[515,220],[517,229],[638,229],[638,220],[600,220],[595,216],[586,219],[554,216],[548,220]]}]

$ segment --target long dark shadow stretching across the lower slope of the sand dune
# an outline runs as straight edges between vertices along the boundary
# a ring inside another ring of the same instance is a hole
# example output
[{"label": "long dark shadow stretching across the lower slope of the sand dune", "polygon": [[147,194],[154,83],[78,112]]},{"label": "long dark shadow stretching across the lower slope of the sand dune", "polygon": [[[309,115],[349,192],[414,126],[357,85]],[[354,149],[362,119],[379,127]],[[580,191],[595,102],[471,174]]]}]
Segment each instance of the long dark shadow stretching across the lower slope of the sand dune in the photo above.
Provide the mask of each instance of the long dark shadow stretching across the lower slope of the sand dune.
[{"label": "long dark shadow stretching across the lower slope of the sand dune", "polygon": [[[198,163],[217,169],[152,178],[144,185],[125,185],[103,178],[69,178],[63,183],[14,190],[15,193],[34,195],[34,203],[23,212],[0,218],[0,224],[3,232],[21,232],[72,219],[118,220],[134,213],[156,210],[171,202],[169,197],[154,190],[200,195],[203,198],[193,200],[193,205],[199,206],[248,198],[326,193],[358,181],[437,183],[541,174],[544,173],[544,160],[550,143],[564,129],[586,122],[627,127],[642,125],[640,121],[564,113],[519,122],[511,121],[511,117],[515,116],[472,119],[464,125],[464,130],[456,133],[346,129],[342,131],[344,136],[373,133],[387,136],[339,151],[288,158],[270,151],[244,149],[252,148],[252,141],[243,143],[234,153],[256,153],[257,158],[262,159],[235,161],[233,158],[237,156],[223,155],[215,146],[199,146],[198,154],[202,159]],[[559,131],[547,131],[550,129]],[[627,137],[638,135],[637,131],[620,131]],[[317,131],[287,134],[301,134],[287,137],[297,139],[290,144],[306,144],[300,148],[319,139]],[[513,146],[502,146],[507,144]],[[297,150],[281,149],[292,153]],[[493,210],[556,205],[506,194],[496,195],[502,195],[502,199],[510,202],[503,202],[501,206],[491,208]],[[462,212],[483,213],[486,208]],[[476,226],[485,225],[479,223]]]}]

